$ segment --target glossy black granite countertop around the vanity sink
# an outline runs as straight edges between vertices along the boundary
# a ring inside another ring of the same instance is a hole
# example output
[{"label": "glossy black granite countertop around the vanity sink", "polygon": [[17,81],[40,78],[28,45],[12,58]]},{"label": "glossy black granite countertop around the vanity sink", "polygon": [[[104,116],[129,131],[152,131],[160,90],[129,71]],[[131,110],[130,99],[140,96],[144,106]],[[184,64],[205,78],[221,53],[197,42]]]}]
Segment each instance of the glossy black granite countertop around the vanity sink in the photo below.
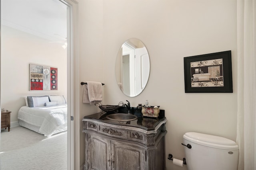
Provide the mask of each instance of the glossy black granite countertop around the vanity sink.
[{"label": "glossy black granite countertop around the vanity sink", "polygon": [[[160,109],[159,116],[157,118],[154,117],[144,117],[142,116],[141,112],[134,112],[131,113],[133,115],[136,115],[138,119],[133,121],[114,121],[109,120],[106,116],[113,113],[105,113],[105,112],[99,112],[94,113],[92,115],[84,116],[84,119],[94,119],[98,121],[102,121],[105,123],[115,124],[115,125],[122,125],[122,126],[130,126],[130,127],[138,127],[145,130],[154,130],[155,127],[162,121],[166,120],[166,117],[164,116],[164,110]],[[84,121],[84,120],[83,120]]]}]

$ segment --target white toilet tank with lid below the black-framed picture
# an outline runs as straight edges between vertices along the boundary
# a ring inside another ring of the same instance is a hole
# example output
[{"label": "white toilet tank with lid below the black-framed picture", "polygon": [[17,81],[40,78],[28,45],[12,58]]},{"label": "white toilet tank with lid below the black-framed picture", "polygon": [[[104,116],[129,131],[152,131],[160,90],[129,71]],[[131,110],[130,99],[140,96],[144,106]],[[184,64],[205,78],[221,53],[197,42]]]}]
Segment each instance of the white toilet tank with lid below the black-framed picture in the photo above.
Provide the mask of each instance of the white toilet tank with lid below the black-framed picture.
[{"label": "white toilet tank with lid below the black-framed picture", "polygon": [[188,132],[182,145],[188,170],[237,170],[238,145],[230,139]]}]

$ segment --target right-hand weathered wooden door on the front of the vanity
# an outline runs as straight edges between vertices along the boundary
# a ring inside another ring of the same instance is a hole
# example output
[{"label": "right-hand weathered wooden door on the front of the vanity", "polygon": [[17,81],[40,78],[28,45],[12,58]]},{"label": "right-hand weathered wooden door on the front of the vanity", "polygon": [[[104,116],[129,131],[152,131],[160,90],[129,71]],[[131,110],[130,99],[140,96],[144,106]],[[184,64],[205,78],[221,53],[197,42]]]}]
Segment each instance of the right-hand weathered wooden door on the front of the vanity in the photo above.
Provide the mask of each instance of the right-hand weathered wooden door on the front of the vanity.
[{"label": "right-hand weathered wooden door on the front of the vanity", "polygon": [[112,170],[146,170],[145,153],[142,147],[111,141]]}]

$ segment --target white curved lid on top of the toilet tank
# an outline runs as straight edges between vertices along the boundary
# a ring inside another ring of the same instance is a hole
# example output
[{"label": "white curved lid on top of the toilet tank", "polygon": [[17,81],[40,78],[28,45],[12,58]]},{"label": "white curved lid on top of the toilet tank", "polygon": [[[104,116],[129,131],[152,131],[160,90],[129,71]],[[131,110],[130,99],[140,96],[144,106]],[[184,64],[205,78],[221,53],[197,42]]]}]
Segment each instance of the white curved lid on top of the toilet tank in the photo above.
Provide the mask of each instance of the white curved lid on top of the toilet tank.
[{"label": "white curved lid on top of the toilet tank", "polygon": [[193,143],[197,143],[199,145],[204,145],[207,147],[227,150],[238,150],[238,145],[236,144],[236,142],[224,137],[207,135],[196,132],[187,132],[183,135],[183,138]]}]

